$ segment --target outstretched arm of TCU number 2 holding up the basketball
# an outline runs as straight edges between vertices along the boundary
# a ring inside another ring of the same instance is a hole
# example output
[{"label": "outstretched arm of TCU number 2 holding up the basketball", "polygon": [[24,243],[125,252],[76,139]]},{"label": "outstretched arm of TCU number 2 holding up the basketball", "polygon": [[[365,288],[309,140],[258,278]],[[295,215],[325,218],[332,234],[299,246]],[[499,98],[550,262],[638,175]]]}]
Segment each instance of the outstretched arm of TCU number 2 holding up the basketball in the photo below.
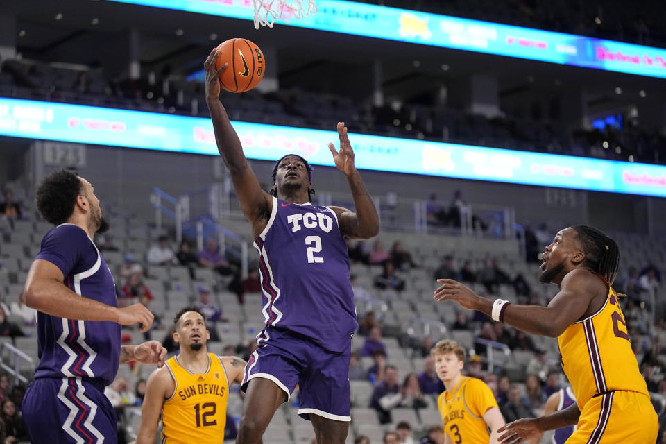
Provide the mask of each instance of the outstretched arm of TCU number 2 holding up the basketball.
[{"label": "outstretched arm of TCU number 2 holding up the basketball", "polygon": [[[262,190],[255,173],[250,169],[248,160],[243,153],[241,141],[219,99],[219,75],[228,67],[228,64],[223,65],[220,69],[216,69],[215,62],[218,53],[218,49],[213,49],[204,63],[206,73],[206,103],[213,121],[217,149],[231,173],[234,190],[241,204],[241,210],[248,221],[253,224],[256,234],[258,228],[263,229],[260,226],[262,225],[262,221],[264,226],[268,221],[273,206],[273,199],[271,196],[268,196],[266,191]],[[261,231],[259,230],[259,232]]]}]

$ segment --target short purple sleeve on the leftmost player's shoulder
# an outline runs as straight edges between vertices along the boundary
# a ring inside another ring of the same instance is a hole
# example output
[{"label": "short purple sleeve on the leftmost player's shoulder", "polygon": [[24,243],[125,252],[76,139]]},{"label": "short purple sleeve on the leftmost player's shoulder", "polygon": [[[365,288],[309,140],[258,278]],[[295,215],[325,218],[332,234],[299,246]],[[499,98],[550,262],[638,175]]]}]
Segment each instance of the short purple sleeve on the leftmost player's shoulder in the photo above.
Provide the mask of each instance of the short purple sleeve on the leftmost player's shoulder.
[{"label": "short purple sleeve on the leftmost player's shoulder", "polygon": [[62,275],[67,276],[82,259],[87,242],[90,240],[81,228],[76,225],[62,225],[46,233],[40,253],[35,259],[51,262],[60,268]]}]

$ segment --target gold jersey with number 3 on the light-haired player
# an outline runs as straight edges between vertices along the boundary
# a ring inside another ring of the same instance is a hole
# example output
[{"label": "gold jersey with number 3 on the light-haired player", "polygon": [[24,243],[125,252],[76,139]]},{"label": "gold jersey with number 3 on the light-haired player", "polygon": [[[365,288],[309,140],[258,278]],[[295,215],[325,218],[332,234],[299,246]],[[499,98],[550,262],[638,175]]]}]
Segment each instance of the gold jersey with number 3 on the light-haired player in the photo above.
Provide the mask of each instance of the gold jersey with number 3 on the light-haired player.
[{"label": "gold jersey with number 3 on the light-haired player", "polygon": [[481,379],[461,377],[452,393],[439,395],[437,407],[452,443],[488,444],[490,434],[484,415],[490,407],[497,407],[497,401]]}]

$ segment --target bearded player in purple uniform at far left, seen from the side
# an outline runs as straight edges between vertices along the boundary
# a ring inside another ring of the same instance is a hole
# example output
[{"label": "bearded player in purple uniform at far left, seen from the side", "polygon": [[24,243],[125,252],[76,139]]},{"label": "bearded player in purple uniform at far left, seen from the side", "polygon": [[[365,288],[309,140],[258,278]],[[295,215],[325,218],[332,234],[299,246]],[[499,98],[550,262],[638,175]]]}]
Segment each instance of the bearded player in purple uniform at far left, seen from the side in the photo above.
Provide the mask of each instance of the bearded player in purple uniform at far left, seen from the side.
[{"label": "bearded player in purple uniform at far left, seen from the side", "polygon": [[56,225],[42,239],[24,290],[37,309],[40,364],[23,400],[33,443],[115,443],[116,414],[104,395],[119,363],[162,366],[157,341],[120,345],[120,326],[153,324],[142,304],[118,308],[113,278],[92,241],[108,224],[94,188],[67,170],[37,189],[37,209]]}]

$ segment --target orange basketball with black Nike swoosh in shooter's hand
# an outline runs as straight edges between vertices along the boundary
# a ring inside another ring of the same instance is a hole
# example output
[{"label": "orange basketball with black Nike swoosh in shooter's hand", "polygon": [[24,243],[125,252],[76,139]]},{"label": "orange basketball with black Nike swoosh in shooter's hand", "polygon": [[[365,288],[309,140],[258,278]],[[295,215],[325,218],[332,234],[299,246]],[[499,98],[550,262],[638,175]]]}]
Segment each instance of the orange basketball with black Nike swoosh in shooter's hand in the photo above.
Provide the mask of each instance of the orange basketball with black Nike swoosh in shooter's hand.
[{"label": "orange basketball with black Nike swoosh in shooter's hand", "polygon": [[217,46],[220,50],[216,67],[225,63],[229,67],[220,74],[220,87],[230,92],[246,92],[259,85],[264,78],[264,53],[250,40],[229,39]]}]

